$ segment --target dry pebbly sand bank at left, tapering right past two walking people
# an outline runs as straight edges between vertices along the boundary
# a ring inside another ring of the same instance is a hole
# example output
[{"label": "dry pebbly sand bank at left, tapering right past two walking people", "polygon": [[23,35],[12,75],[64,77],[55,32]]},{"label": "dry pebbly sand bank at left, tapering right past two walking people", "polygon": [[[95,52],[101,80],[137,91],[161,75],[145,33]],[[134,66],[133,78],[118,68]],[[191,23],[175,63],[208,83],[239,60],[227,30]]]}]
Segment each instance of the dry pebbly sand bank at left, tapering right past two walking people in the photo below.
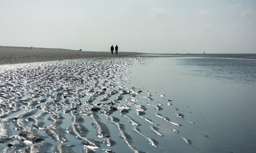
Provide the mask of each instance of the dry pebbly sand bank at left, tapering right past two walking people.
[{"label": "dry pebbly sand bank at left, tapering right past two walking people", "polygon": [[[109,48],[110,50],[110,48]],[[111,51],[95,52],[95,51],[78,51],[70,49],[52,49],[37,47],[12,47],[0,46],[0,64],[17,64],[30,62],[46,62],[56,60],[71,60],[81,58],[101,58],[101,57],[122,57],[127,55],[142,55],[145,53],[122,52],[113,55]]]}]

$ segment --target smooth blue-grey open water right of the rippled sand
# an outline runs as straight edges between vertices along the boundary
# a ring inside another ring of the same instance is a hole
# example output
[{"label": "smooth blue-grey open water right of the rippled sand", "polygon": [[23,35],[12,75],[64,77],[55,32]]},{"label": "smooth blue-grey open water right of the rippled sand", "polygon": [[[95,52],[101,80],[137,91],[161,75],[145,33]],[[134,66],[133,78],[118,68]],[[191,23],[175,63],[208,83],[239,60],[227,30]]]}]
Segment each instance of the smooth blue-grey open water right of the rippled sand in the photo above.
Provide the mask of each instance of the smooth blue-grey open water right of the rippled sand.
[{"label": "smooth blue-grey open water right of the rippled sand", "polygon": [[165,94],[173,100],[178,113],[196,123],[182,127],[180,134],[189,135],[202,152],[253,152],[255,66],[255,60],[248,59],[154,58],[150,64],[130,71],[140,80],[139,86]]}]

